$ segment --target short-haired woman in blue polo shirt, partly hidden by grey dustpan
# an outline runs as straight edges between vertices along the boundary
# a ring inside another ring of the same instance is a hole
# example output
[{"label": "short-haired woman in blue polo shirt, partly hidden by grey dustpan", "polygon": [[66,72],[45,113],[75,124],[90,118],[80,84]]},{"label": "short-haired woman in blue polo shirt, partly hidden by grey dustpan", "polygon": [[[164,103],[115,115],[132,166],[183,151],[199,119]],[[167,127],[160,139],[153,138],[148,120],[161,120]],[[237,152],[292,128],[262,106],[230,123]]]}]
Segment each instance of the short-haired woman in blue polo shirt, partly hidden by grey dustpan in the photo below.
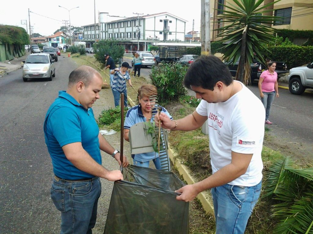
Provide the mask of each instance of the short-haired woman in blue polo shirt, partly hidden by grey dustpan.
[{"label": "short-haired woman in blue polo shirt, partly hidden by grey dustpan", "polygon": [[[132,125],[140,122],[152,122],[152,107],[154,103],[150,102],[149,97],[157,95],[157,90],[154,85],[142,85],[138,89],[139,105],[136,105],[127,111],[125,122],[124,122],[124,139],[129,141],[129,129]],[[162,112],[167,114],[171,119],[172,116],[162,107]],[[149,167],[149,162],[152,160],[156,169],[161,169],[161,162],[159,154],[155,152],[134,154],[131,155],[135,166]]]}]

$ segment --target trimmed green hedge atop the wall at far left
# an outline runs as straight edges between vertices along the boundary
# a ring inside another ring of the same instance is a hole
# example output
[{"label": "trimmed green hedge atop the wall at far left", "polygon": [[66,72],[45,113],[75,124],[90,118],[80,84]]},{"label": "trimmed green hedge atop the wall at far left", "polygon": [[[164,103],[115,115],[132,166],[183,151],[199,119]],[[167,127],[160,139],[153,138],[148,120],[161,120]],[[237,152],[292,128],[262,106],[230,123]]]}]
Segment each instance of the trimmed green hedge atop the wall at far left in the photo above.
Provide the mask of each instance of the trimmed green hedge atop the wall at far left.
[{"label": "trimmed green hedge atop the wall at far left", "polygon": [[0,41],[11,45],[28,45],[29,36],[22,27],[0,25]]}]

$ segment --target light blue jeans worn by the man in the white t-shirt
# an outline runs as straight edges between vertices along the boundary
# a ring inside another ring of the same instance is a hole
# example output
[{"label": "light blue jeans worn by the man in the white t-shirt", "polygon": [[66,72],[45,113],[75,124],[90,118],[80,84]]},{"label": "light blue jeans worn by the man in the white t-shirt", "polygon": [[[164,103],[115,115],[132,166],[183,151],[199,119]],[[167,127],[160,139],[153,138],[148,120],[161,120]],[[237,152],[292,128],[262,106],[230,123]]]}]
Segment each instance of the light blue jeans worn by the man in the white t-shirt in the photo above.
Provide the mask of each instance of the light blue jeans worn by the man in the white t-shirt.
[{"label": "light blue jeans worn by the man in the white t-shirt", "polygon": [[225,184],[211,189],[217,234],[244,233],[262,182],[251,187]]}]

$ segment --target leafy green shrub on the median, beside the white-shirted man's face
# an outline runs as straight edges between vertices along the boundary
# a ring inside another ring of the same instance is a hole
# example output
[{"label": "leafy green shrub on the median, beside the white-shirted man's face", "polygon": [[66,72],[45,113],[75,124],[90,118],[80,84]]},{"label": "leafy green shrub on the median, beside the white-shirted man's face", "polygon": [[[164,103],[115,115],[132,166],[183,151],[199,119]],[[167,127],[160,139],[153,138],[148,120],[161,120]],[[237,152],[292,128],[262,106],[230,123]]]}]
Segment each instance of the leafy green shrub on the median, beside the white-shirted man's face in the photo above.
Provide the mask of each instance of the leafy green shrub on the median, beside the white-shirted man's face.
[{"label": "leafy green shrub on the median, beside the white-shirted man's face", "polygon": [[177,101],[186,95],[183,79],[188,67],[179,63],[162,63],[162,66],[152,66],[150,78],[158,90],[158,102],[161,105],[169,101]]}]

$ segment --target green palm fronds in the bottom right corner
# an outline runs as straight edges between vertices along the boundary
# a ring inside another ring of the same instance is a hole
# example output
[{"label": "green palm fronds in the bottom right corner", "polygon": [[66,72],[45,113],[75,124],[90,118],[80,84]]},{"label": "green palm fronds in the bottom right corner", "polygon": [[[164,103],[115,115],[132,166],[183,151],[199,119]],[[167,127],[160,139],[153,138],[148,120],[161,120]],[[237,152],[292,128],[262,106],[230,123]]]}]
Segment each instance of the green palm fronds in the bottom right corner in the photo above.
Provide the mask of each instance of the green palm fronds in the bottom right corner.
[{"label": "green palm fronds in the bottom right corner", "polygon": [[279,203],[273,216],[279,219],[273,233],[313,234],[313,168],[291,168],[290,158],[278,160],[266,176],[266,195]]}]

